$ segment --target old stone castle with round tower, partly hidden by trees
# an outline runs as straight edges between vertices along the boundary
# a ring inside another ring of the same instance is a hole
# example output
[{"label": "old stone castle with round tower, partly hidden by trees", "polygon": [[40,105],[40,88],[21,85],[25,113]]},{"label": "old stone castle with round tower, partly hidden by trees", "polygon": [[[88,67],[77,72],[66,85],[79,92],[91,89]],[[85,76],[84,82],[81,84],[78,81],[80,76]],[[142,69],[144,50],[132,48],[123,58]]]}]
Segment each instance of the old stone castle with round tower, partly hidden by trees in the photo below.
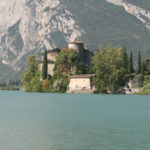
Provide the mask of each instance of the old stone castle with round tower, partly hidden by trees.
[{"label": "old stone castle with round tower, partly hidden by trees", "polygon": [[[79,60],[86,66],[92,67],[92,57],[93,53],[84,47],[84,43],[77,40],[68,43],[68,49],[74,49],[79,54]],[[62,49],[55,48],[47,51],[47,60],[48,60],[48,75],[53,75],[53,70],[55,67],[56,57],[59,55]],[[42,70],[44,53],[42,53],[40,70]]]}]

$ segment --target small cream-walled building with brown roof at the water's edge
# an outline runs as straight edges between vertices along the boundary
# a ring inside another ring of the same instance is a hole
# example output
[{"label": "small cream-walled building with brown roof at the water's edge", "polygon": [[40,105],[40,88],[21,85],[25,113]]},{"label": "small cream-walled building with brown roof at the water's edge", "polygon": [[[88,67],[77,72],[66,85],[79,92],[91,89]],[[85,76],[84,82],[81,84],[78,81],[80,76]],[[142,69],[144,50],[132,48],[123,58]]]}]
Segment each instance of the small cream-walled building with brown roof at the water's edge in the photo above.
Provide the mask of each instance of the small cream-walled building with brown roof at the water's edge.
[{"label": "small cream-walled building with brown roof at the water's edge", "polygon": [[92,86],[94,74],[73,75],[70,77],[70,83],[67,93],[94,93]]}]

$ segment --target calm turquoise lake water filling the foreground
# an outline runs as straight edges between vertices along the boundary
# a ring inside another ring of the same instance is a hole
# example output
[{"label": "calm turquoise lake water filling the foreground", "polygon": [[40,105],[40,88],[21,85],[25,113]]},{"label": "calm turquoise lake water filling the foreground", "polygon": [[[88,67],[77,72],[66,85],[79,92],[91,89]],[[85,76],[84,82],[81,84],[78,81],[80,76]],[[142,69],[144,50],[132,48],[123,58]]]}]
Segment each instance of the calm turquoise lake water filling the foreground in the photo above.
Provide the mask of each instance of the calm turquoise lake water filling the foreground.
[{"label": "calm turquoise lake water filling the foreground", "polygon": [[0,150],[150,150],[150,96],[1,91]]}]

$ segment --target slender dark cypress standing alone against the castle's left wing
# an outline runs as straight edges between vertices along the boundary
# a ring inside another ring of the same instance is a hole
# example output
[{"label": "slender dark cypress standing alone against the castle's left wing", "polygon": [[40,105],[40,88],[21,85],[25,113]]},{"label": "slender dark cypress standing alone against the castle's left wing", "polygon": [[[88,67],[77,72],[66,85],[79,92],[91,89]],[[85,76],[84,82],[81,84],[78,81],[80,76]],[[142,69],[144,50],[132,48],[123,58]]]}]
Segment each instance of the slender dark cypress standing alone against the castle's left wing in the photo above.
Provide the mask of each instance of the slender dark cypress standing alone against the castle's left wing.
[{"label": "slender dark cypress standing alone against the castle's left wing", "polygon": [[47,79],[47,51],[44,52],[43,65],[42,65],[42,78]]}]

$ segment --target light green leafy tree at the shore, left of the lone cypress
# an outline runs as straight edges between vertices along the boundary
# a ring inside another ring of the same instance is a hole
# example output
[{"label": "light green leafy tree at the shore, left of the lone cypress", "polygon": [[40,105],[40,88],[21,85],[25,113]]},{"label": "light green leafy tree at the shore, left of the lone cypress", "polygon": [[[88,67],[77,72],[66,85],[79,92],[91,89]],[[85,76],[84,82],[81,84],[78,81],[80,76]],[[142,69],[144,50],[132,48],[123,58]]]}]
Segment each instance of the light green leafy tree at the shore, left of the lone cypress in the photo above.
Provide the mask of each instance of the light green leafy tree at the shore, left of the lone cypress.
[{"label": "light green leafy tree at the shore, left of the lone cypress", "polygon": [[40,92],[41,81],[39,71],[39,61],[37,56],[30,55],[27,58],[27,67],[22,76],[22,83],[26,92]]}]

